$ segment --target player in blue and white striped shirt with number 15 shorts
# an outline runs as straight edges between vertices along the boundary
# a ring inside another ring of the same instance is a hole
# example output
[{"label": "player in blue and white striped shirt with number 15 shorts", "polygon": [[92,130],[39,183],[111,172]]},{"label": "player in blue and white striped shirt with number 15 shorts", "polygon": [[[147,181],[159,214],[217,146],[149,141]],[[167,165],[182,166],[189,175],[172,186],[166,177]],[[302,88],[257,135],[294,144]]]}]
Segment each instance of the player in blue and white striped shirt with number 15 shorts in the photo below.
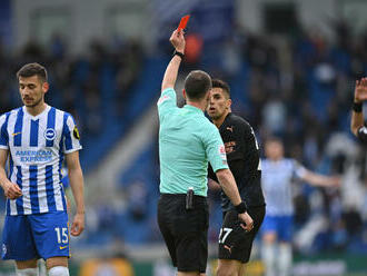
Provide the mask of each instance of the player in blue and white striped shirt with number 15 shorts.
[{"label": "player in blue and white striped shirt with number 15 shorts", "polygon": [[[85,228],[79,131],[69,114],[44,102],[49,83],[42,66],[28,63],[17,77],[23,106],[0,117],[0,185],[7,197],[1,257],[16,260],[18,276],[38,275],[39,258],[50,276],[67,276],[69,234]],[[70,229],[63,159],[77,206]]]}]

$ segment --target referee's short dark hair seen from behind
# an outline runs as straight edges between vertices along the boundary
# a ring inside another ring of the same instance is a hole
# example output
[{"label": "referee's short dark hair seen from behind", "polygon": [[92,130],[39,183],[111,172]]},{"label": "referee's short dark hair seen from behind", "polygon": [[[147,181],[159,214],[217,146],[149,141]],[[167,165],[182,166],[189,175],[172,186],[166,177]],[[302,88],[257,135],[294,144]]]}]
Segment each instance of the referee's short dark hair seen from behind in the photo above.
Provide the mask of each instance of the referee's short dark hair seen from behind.
[{"label": "referee's short dark hair seen from behind", "polygon": [[211,89],[210,76],[201,70],[191,71],[185,79],[185,91],[189,99],[202,99],[208,90]]}]

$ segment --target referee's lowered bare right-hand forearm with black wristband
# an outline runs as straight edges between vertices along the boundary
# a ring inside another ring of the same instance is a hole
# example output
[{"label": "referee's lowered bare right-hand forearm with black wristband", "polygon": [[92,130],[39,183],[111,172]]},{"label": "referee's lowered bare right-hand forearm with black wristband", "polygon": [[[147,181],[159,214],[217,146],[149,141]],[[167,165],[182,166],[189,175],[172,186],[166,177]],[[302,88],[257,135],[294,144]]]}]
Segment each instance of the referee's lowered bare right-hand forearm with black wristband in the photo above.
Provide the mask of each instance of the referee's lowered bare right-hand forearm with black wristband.
[{"label": "referee's lowered bare right-hand forearm with black wristband", "polygon": [[[236,185],[235,177],[229,169],[218,169],[216,171],[219,185],[221,186],[224,193],[230,199],[235,208],[238,210],[238,217],[241,219],[246,225],[244,229],[251,230],[254,227],[252,218],[246,211],[246,205],[242,203],[241,197],[238,193],[238,188]],[[245,205],[245,209],[242,209]]]}]

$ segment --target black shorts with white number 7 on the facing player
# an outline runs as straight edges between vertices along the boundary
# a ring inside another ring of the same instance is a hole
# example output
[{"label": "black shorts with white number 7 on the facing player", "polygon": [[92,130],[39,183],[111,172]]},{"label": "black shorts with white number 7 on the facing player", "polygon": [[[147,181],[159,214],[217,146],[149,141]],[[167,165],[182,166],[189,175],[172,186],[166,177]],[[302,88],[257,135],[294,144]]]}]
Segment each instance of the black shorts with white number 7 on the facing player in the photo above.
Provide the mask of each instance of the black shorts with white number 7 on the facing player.
[{"label": "black shorts with white number 7 on the facing player", "polygon": [[219,234],[219,259],[236,259],[241,263],[249,260],[252,241],[264,220],[265,206],[250,207],[247,211],[254,220],[254,229],[249,233],[240,226],[236,210],[225,214]]}]

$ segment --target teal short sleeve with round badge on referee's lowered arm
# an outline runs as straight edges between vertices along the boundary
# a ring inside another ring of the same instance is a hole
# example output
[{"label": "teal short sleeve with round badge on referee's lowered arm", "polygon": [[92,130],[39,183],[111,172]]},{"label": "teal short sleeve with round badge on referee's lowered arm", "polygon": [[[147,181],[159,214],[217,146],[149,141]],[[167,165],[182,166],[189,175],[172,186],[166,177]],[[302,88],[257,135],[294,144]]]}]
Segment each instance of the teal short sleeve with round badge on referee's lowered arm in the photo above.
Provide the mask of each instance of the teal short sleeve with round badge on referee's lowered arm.
[{"label": "teal short sleeve with round badge on referee's lowered arm", "polygon": [[212,124],[210,124],[206,129],[206,134],[204,135],[204,145],[208,160],[212,167],[212,171],[217,172],[219,169],[228,169],[224,141],[218,129]]}]

